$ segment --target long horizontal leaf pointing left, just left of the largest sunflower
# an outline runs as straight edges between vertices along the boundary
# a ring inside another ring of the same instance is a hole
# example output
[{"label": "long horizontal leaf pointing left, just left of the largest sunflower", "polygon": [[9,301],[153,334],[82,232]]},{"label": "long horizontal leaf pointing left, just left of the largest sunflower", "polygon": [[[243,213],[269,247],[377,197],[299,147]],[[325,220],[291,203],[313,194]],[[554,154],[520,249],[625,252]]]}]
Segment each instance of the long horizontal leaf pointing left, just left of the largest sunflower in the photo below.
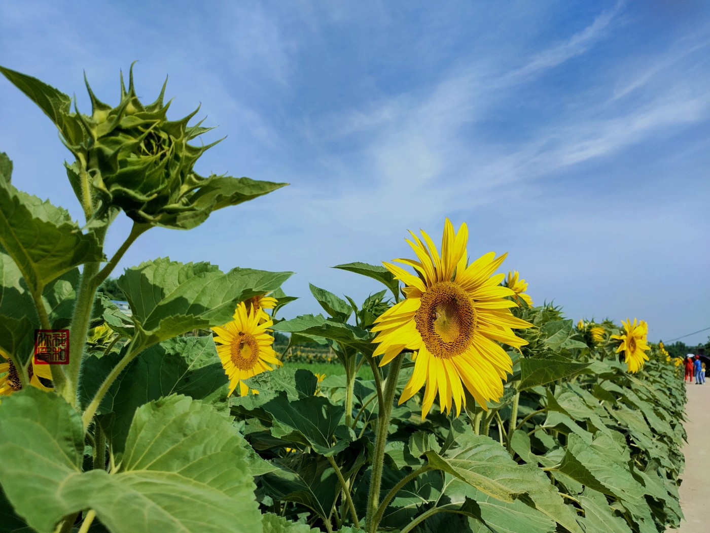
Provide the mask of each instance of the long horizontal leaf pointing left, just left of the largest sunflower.
[{"label": "long horizontal leaf pointing left, just left of the largest sunflower", "polygon": [[374,345],[371,344],[373,335],[368,331],[333,318],[325,318],[322,315],[297,316],[290,321],[274,324],[273,329],[287,333],[316,335],[332,339],[341,345],[350,346],[367,356],[374,351]]}]

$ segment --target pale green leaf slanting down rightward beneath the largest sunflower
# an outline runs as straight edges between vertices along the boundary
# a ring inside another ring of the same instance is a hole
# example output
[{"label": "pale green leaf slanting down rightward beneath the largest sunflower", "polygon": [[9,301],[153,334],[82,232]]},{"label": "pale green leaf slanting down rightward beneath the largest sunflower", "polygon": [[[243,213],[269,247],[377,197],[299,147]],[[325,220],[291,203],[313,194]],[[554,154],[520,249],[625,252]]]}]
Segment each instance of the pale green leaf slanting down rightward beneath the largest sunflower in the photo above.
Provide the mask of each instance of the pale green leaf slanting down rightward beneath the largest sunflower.
[{"label": "pale green leaf slanting down rightward beneath the largest sunflower", "polygon": [[[545,473],[534,465],[518,465],[491,438],[466,433],[446,458],[426,453],[432,466],[444,470],[487,496],[512,503],[520,498],[574,533],[581,533],[572,508],[564,504]],[[432,461],[433,460],[433,461]]]}]

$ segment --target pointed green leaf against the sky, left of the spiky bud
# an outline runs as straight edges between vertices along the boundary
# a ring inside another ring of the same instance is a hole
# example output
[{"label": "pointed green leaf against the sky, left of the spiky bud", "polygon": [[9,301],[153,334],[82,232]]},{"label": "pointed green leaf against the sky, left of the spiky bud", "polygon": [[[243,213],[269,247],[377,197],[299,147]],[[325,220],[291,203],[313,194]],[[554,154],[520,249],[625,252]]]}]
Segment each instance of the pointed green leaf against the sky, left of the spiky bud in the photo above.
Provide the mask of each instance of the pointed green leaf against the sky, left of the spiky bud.
[{"label": "pointed green leaf against the sky, left of the spiky bud", "polygon": [[68,95],[21,72],[4,67],[0,67],[0,72],[42,109],[68,144],[79,144],[84,137],[84,129],[76,115],[70,112],[72,99]]}]

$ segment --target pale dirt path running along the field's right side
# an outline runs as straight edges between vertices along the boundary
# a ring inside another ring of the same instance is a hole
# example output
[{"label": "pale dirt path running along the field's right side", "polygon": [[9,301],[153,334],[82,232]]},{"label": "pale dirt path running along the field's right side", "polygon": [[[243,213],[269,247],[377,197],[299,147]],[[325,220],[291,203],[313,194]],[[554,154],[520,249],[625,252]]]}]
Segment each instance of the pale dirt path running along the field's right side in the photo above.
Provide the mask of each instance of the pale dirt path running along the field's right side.
[{"label": "pale dirt path running along the field's right side", "polygon": [[[675,533],[708,533],[707,492],[710,490],[710,379],[704,385],[688,385],[686,413],[688,443],[683,447],[686,457],[685,472],[680,485],[680,507],[685,519]],[[690,459],[692,458],[692,460]]]}]

